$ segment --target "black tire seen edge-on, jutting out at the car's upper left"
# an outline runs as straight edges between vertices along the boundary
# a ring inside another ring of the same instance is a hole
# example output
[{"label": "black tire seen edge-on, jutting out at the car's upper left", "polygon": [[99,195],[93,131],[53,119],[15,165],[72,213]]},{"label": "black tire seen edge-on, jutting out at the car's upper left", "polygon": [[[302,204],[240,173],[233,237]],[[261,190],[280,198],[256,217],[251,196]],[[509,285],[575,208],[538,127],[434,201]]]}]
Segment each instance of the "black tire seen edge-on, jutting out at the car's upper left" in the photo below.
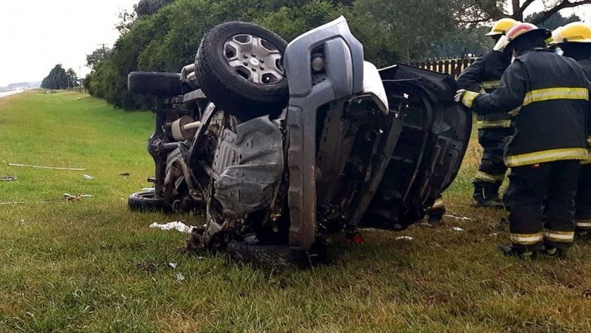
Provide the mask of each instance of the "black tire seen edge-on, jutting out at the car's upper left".
[{"label": "black tire seen edge-on, jutting out at the car's upper left", "polygon": [[132,72],[127,75],[127,89],[135,94],[158,97],[183,94],[179,73]]}]

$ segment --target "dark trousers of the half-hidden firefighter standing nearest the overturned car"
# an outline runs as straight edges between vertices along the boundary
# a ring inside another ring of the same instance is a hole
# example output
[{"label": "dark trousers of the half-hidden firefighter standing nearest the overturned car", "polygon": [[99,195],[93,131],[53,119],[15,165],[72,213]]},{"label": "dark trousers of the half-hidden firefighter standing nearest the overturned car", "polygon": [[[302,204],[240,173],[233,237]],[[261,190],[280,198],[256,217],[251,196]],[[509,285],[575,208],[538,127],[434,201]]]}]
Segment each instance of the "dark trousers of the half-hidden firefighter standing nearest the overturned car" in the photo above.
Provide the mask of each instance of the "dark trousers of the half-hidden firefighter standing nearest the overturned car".
[{"label": "dark trousers of the half-hidden firefighter standing nearest the overturned car", "polygon": [[478,130],[478,143],[483,153],[478,171],[474,176],[474,199],[491,199],[498,197],[507,167],[504,165],[503,153],[505,137],[512,128],[483,128]]}]

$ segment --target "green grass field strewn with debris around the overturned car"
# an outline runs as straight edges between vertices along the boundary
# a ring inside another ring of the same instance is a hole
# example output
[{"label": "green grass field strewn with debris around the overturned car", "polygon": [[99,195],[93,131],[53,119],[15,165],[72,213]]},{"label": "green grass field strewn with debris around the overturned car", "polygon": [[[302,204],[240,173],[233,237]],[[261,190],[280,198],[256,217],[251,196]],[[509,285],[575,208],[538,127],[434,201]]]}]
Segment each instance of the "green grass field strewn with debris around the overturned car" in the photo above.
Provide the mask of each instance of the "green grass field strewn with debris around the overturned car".
[{"label": "green grass field strewn with debris around the overturned car", "polygon": [[152,128],[151,113],[71,92],[0,99],[0,176],[18,177],[0,202],[27,202],[0,204],[0,332],[591,332],[590,244],[567,260],[497,253],[504,213],[469,207],[474,143],[445,194],[472,220],[365,232],[364,246],[336,241],[330,265],[278,270],[184,253],[183,234],[148,228],[196,218],[127,211],[152,175]]}]

